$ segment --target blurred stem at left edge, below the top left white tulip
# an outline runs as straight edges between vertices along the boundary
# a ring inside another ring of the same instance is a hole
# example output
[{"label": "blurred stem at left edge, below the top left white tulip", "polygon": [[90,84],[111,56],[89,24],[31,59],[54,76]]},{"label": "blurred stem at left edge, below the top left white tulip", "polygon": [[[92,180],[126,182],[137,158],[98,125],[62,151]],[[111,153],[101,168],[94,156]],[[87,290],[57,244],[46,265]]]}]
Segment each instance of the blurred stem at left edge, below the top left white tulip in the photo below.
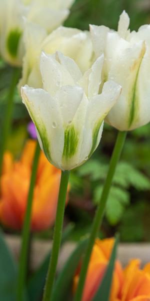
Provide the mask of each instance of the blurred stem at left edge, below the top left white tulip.
[{"label": "blurred stem at left edge, below the top left white tulip", "polygon": [[14,68],[12,71],[12,79],[10,88],[8,91],[8,99],[7,99],[7,105],[4,113],[4,119],[3,119],[3,125],[2,125],[2,134],[1,134],[1,145],[0,145],[0,176],[2,173],[2,162],[3,162],[3,154],[5,151],[7,138],[11,126],[11,120],[12,120],[12,111],[13,111],[13,98],[14,98],[14,91],[16,84],[18,82],[20,75],[20,69]]}]

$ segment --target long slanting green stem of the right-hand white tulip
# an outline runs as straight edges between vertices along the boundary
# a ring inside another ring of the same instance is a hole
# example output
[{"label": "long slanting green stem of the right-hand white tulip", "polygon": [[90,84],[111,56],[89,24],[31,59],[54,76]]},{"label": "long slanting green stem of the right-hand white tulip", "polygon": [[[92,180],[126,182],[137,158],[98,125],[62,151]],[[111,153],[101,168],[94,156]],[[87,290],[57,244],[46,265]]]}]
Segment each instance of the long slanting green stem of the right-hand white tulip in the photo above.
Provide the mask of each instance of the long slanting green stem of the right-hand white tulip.
[{"label": "long slanting green stem of the right-hand white tulip", "polygon": [[89,240],[88,240],[85,256],[84,256],[83,263],[82,263],[82,266],[81,266],[78,286],[77,286],[76,293],[75,293],[75,296],[74,296],[74,301],[80,301],[81,298],[82,298],[83,287],[84,287],[84,282],[85,282],[85,278],[86,278],[86,272],[87,272],[88,263],[89,263],[89,260],[90,260],[92,247],[93,247],[95,238],[97,236],[98,229],[99,229],[100,224],[101,224],[101,220],[102,220],[102,217],[103,217],[103,214],[104,214],[105,205],[106,205],[106,201],[107,201],[108,194],[109,194],[109,191],[110,191],[113,175],[114,175],[114,172],[115,172],[117,162],[118,162],[118,160],[120,158],[120,155],[121,155],[121,150],[122,150],[122,147],[124,145],[125,137],[126,137],[126,131],[119,131],[118,132],[117,139],[116,139],[116,142],[115,142],[115,146],[114,146],[114,149],[113,149],[113,153],[112,153],[112,156],[111,156],[110,164],[109,164],[107,177],[106,177],[106,180],[105,180],[105,183],[104,183],[104,186],[103,186],[103,190],[102,190],[102,194],[101,194],[101,197],[100,197],[99,205],[97,207],[97,210],[96,210],[96,213],[95,213],[95,216],[94,216],[94,220],[93,220],[93,223],[92,223],[91,232],[90,232],[90,235],[89,235]]}]

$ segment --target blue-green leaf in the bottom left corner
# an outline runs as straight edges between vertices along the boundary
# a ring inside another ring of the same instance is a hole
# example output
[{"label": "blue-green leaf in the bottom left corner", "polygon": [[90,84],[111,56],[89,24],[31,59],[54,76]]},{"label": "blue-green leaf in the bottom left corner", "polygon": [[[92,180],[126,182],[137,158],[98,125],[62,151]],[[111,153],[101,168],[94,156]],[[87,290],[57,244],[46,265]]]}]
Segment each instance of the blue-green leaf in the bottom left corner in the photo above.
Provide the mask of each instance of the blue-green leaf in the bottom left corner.
[{"label": "blue-green leaf in the bottom left corner", "polygon": [[17,268],[0,231],[0,300],[16,300]]}]

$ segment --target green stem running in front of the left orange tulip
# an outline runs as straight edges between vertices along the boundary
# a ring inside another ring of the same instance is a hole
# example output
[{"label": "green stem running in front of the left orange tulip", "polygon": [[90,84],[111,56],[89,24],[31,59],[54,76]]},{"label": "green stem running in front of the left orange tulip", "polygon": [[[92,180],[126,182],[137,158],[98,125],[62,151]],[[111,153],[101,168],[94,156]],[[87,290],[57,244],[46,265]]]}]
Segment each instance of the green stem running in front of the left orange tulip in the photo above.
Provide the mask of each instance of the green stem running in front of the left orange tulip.
[{"label": "green stem running in front of the left orange tulip", "polygon": [[[32,173],[31,173],[31,178],[30,178],[26,212],[25,212],[25,216],[24,216],[24,225],[23,225],[23,230],[22,230],[22,244],[21,244],[21,250],[20,250],[20,258],[19,258],[19,266],[18,266],[18,283],[17,283],[17,300],[18,301],[21,301],[23,299],[23,293],[24,293],[24,287],[25,287],[32,199],[33,199],[33,192],[34,192],[34,185],[35,185],[35,180],[36,180],[39,155],[40,155],[40,147],[37,142],[36,148],[35,148],[35,153],[34,153],[33,164],[32,164]],[[23,179],[22,179],[22,181],[23,181]]]}]

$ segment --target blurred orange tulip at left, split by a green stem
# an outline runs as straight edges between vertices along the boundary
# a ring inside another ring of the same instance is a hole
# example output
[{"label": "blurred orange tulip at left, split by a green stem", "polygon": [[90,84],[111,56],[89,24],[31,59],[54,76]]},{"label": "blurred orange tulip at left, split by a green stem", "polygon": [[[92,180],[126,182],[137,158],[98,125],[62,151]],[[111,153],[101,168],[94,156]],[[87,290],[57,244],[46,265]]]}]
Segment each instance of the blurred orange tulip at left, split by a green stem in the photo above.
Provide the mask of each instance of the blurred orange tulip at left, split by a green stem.
[{"label": "blurred orange tulip at left, split by a green stem", "polygon": [[[19,161],[5,153],[1,177],[0,222],[12,229],[21,229],[30,183],[36,142],[28,140]],[[41,231],[55,220],[60,171],[40,153],[34,187],[31,229]]]}]

